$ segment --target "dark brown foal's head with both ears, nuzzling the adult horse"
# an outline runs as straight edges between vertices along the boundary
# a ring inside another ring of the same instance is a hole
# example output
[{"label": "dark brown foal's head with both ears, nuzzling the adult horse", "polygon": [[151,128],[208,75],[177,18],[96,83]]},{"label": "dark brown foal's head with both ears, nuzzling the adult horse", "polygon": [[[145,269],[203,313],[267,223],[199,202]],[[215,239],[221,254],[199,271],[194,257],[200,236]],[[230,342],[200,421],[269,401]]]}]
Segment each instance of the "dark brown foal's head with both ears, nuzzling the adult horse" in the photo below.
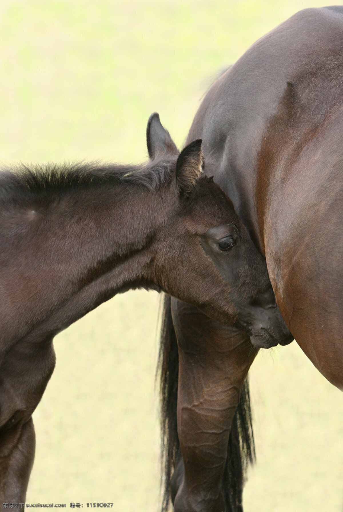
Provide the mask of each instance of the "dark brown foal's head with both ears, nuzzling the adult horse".
[{"label": "dark brown foal's head with both ears, nuzzling the adult horse", "polygon": [[154,281],[210,317],[248,331],[256,346],[289,343],[265,259],[230,199],[205,176],[201,140],[179,153],[156,113],[146,136],[151,160],[166,157],[173,166],[163,191],[170,207],[156,237]]}]

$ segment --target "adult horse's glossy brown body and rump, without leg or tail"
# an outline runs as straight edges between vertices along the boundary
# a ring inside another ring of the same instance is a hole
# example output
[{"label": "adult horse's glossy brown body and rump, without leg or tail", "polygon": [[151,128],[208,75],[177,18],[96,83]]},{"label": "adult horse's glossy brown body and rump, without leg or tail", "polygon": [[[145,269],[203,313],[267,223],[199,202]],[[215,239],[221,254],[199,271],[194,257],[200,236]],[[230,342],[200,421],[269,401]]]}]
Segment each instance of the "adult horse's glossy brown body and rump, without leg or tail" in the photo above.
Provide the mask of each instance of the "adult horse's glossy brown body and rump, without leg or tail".
[{"label": "adult horse's glossy brown body and rump, without leg or tail", "polygon": [[265,252],[292,334],[340,388],[342,84],[343,7],[306,9],[213,84],[188,135]]}]

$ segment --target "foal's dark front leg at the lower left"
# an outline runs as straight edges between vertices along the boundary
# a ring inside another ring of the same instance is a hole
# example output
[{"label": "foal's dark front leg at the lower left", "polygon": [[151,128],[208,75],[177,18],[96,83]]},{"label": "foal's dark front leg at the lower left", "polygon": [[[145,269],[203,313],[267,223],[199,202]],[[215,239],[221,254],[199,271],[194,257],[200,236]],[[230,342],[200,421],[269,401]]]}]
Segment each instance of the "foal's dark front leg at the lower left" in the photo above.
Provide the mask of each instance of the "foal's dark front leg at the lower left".
[{"label": "foal's dark front leg at the lower left", "polygon": [[32,413],[55,366],[52,340],[19,342],[0,366],[0,503],[24,503],[32,469]]}]

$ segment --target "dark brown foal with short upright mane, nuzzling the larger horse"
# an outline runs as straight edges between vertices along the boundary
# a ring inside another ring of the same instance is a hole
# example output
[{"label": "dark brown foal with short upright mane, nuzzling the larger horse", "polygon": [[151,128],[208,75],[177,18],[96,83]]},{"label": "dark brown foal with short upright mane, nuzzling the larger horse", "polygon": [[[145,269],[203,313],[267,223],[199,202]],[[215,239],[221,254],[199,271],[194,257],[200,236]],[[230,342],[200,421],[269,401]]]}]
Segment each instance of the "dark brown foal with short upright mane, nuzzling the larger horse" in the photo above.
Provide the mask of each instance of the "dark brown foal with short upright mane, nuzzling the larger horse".
[{"label": "dark brown foal with short upright mane, nuzzling the larger horse", "polygon": [[54,369],[59,331],[137,287],[247,329],[256,321],[251,304],[274,304],[262,256],[202,172],[201,140],[179,154],[153,114],[147,145],[152,160],[141,166],[0,174],[0,502],[25,500],[31,415]]}]

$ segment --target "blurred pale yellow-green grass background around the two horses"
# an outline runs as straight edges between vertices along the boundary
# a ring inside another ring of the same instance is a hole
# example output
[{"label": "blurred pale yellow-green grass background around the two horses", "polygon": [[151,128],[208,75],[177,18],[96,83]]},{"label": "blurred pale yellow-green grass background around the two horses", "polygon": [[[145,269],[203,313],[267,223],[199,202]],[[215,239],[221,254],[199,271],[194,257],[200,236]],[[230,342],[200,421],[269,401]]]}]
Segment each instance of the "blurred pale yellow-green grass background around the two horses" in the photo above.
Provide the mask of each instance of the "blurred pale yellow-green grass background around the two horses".
[{"label": "blurred pale yellow-green grass background around the two horses", "polygon": [[[1,0],[0,159],[146,158],[158,111],[176,143],[219,70],[316,0]],[[115,297],[55,339],[34,413],[28,502],[159,509],[156,293]],[[250,372],[257,464],[245,512],[340,511],[343,395],[295,343]]]}]

